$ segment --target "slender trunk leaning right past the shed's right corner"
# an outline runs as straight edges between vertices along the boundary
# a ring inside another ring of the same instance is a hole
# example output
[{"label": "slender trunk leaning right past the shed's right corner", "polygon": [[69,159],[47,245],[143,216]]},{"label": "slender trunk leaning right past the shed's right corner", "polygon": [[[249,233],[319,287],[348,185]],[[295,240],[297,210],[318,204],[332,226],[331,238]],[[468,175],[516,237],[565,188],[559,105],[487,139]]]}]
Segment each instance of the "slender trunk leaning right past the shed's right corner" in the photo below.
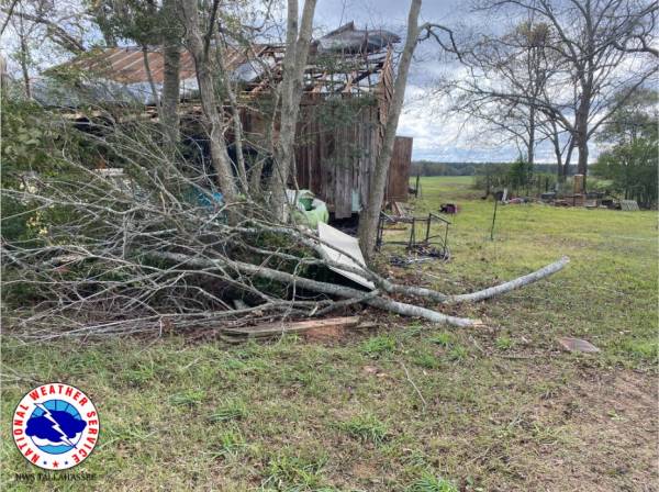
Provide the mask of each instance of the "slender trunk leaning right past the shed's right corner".
[{"label": "slender trunk leaning right past the shed's right corner", "polygon": [[421,10],[421,0],[412,0],[410,5],[410,14],[407,18],[407,38],[399,63],[398,74],[393,88],[393,99],[389,108],[387,126],[384,128],[384,141],[378,158],[376,168],[370,178],[370,188],[368,203],[361,212],[359,219],[359,241],[361,243],[361,251],[367,261],[370,261],[376,249],[376,236],[378,232],[378,221],[380,219],[380,210],[384,200],[384,188],[387,187],[387,177],[389,175],[389,165],[393,154],[393,145],[395,143],[395,131],[398,128],[399,118],[403,108],[405,98],[405,87],[407,86],[407,72],[412,64],[412,55],[416,47],[418,37],[418,11]]}]

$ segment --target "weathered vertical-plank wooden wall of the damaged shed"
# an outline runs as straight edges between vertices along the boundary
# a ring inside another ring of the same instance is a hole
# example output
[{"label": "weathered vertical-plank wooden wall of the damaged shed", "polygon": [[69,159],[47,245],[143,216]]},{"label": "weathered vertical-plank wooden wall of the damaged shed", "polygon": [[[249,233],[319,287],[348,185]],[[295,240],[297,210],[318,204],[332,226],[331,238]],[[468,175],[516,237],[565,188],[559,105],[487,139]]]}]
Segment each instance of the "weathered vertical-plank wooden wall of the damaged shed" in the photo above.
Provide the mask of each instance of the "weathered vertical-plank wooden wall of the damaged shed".
[{"label": "weathered vertical-plank wooden wall of the damaged shed", "polygon": [[[380,81],[371,94],[305,93],[302,98],[295,136],[297,185],[325,201],[336,219],[353,214],[354,192],[358,194],[358,205],[367,203],[370,177],[393,98],[392,60],[390,49]],[[332,112],[333,107],[336,114]],[[348,114],[342,116],[346,108]],[[258,113],[244,114],[245,132],[254,136],[265,133],[264,122],[259,120]],[[411,156],[412,138],[396,137],[387,201],[406,200]]]}]

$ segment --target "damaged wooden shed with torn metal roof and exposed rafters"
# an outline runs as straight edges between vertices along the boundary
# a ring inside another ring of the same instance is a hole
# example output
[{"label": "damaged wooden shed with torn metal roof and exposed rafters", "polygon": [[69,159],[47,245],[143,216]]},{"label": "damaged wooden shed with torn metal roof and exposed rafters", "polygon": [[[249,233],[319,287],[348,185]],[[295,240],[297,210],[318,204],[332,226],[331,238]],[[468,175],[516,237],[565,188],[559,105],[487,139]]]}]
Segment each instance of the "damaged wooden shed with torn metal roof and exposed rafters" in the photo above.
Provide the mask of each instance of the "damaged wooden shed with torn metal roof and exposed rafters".
[{"label": "damaged wooden shed with torn metal roof and exposed rafters", "polygon": [[[393,96],[393,45],[398,42],[392,33],[360,31],[350,22],[312,43],[295,137],[295,182],[291,185],[315,193],[335,219],[349,217],[367,203]],[[239,88],[244,145],[254,155],[263,153],[269,127],[277,132],[272,99],[283,55],[283,46],[273,44],[226,49],[224,66]],[[159,51],[98,49],[64,67],[93,74],[86,85],[87,98],[99,104],[136,104],[142,118],[157,120],[155,103],[164,79]],[[80,98],[70,91],[58,93],[49,82],[36,85],[35,99],[85,119],[88,115],[76,110]],[[179,108],[185,134],[186,125],[201,116],[194,62],[187,51],[180,60]],[[226,138],[231,145],[233,136]],[[412,138],[398,136],[387,201],[406,200],[411,158]]]}]

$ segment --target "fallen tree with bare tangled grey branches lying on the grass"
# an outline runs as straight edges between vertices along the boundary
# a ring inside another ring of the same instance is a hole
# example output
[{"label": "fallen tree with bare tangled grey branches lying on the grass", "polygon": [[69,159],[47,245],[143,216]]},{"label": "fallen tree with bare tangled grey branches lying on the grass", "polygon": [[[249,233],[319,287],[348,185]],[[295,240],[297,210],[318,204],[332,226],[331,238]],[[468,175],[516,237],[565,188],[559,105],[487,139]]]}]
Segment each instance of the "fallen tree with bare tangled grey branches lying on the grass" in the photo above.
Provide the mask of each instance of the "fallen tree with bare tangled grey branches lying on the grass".
[{"label": "fallen tree with bare tangled grey branches lying on the grass", "polygon": [[[125,168],[127,182],[65,160],[56,177],[32,177],[26,186],[2,190],[11,202],[3,225],[24,231],[2,242],[7,333],[44,339],[241,326],[322,316],[357,303],[474,326],[480,322],[414,299],[437,305],[481,301],[569,261],[462,295],[403,286],[369,268],[334,262],[322,247],[332,245],[303,227],[273,222],[260,203],[215,203],[200,180],[189,178],[198,169],[187,169],[182,159],[171,165],[156,146],[139,146],[137,164],[131,150],[137,147],[118,146],[124,161],[133,163]],[[327,267],[358,273],[376,289],[321,280]]]}]

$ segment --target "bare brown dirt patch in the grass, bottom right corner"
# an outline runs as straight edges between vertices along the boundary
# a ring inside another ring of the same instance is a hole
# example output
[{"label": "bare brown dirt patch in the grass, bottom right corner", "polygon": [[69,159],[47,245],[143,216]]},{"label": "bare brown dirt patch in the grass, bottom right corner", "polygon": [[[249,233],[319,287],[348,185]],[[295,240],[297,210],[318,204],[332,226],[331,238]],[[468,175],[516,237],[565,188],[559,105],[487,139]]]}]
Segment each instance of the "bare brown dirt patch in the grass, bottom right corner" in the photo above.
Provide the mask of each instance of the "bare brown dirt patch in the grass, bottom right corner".
[{"label": "bare brown dirt patch in the grass, bottom right corner", "polygon": [[585,370],[535,409],[532,425],[562,436],[539,446],[550,473],[533,490],[657,491],[657,377]]}]

